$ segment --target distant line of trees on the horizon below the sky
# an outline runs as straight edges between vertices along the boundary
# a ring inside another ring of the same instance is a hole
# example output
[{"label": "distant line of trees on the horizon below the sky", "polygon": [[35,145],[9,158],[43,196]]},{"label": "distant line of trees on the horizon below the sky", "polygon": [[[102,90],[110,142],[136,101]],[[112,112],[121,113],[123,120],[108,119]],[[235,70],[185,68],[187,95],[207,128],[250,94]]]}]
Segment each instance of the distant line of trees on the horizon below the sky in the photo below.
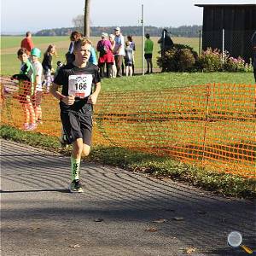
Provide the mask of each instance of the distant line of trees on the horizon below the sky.
[{"label": "distant line of trees on the horizon below the sky", "polygon": [[[141,26],[120,26],[123,35],[142,35]],[[115,26],[91,26],[90,36],[100,37],[102,32],[113,33]],[[168,32],[171,32],[173,37],[184,37],[184,38],[196,38],[199,36],[201,26],[178,26],[178,27],[156,27],[156,26],[145,26],[145,33],[149,33],[152,37],[160,37],[162,30],[166,28]],[[44,29],[35,33],[36,36],[69,36],[71,32],[77,30],[83,32],[83,27],[61,27],[53,29]]]}]

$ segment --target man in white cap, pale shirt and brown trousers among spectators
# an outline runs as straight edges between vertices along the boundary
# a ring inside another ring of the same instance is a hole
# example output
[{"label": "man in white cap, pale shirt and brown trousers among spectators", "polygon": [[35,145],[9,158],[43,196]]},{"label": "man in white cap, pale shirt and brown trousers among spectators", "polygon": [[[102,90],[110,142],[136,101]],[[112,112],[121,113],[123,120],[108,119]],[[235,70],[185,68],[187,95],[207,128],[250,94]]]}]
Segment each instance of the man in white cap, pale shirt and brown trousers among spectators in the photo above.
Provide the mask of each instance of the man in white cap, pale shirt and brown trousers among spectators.
[{"label": "man in white cap, pale shirt and brown trousers among spectators", "polygon": [[123,57],[125,55],[125,39],[120,32],[119,26],[117,26],[114,29],[114,33],[115,33],[115,38],[114,38],[115,45],[113,49],[114,61],[117,68],[117,77],[121,77]]}]

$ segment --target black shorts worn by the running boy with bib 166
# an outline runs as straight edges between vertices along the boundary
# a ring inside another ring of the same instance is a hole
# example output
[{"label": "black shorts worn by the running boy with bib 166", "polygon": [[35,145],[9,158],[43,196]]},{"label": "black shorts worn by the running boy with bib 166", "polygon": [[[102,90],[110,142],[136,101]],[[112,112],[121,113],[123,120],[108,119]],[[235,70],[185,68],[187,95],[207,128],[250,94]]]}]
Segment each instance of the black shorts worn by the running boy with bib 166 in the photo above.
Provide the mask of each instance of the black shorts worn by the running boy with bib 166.
[{"label": "black shorts worn by the running boy with bib 166", "polygon": [[78,113],[75,111],[61,112],[61,123],[67,135],[67,143],[72,144],[82,138],[83,143],[91,145],[92,112]]}]

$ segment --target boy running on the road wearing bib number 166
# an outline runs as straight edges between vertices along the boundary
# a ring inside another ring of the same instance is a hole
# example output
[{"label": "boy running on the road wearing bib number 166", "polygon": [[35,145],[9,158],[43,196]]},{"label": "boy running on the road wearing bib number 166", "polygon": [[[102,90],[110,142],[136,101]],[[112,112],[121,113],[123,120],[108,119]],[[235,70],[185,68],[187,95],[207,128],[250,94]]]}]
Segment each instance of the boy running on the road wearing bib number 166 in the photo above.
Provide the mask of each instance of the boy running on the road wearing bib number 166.
[{"label": "boy running on the road wearing bib number 166", "polygon": [[[84,192],[79,182],[79,166],[81,156],[90,154],[92,105],[96,104],[101,90],[98,67],[89,62],[91,47],[88,38],[79,38],[74,43],[75,60],[61,67],[49,90],[60,100],[61,123],[67,143],[73,143],[70,192]],[[96,84],[93,93],[92,84]],[[61,93],[59,86],[62,86]]]}]

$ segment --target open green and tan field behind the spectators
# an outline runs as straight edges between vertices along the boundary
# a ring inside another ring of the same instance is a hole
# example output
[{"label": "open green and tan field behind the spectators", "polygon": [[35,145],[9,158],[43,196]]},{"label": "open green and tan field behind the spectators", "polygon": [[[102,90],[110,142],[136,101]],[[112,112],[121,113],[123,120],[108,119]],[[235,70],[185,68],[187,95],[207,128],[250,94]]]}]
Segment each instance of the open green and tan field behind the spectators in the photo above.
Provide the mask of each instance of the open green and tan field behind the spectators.
[{"label": "open green and tan field behind the spectators", "polygon": [[[16,52],[20,47],[20,41],[22,37],[2,37],[1,38],[1,74],[3,75],[11,75],[17,73],[20,67],[20,62],[17,60]],[[159,38],[153,37],[154,41],[154,54],[153,61],[154,67],[156,65],[156,57],[159,56],[158,51],[160,50],[159,44],[157,44],[157,40]],[[91,38],[94,45],[96,45],[97,41],[100,38],[92,37]],[[142,65],[142,38],[134,37],[134,41],[136,43],[136,53],[135,53],[135,67],[141,68]],[[188,44],[193,47],[196,51],[198,51],[198,38],[173,38],[173,42],[175,44]],[[65,53],[67,52],[69,46],[69,38],[68,37],[33,37],[33,43],[36,47],[44,52],[47,49],[49,44],[55,44],[58,50],[58,56],[54,59],[54,67],[55,63],[58,60],[65,61]],[[43,58],[41,58],[43,61]],[[145,64],[146,65],[146,64]]]}]

